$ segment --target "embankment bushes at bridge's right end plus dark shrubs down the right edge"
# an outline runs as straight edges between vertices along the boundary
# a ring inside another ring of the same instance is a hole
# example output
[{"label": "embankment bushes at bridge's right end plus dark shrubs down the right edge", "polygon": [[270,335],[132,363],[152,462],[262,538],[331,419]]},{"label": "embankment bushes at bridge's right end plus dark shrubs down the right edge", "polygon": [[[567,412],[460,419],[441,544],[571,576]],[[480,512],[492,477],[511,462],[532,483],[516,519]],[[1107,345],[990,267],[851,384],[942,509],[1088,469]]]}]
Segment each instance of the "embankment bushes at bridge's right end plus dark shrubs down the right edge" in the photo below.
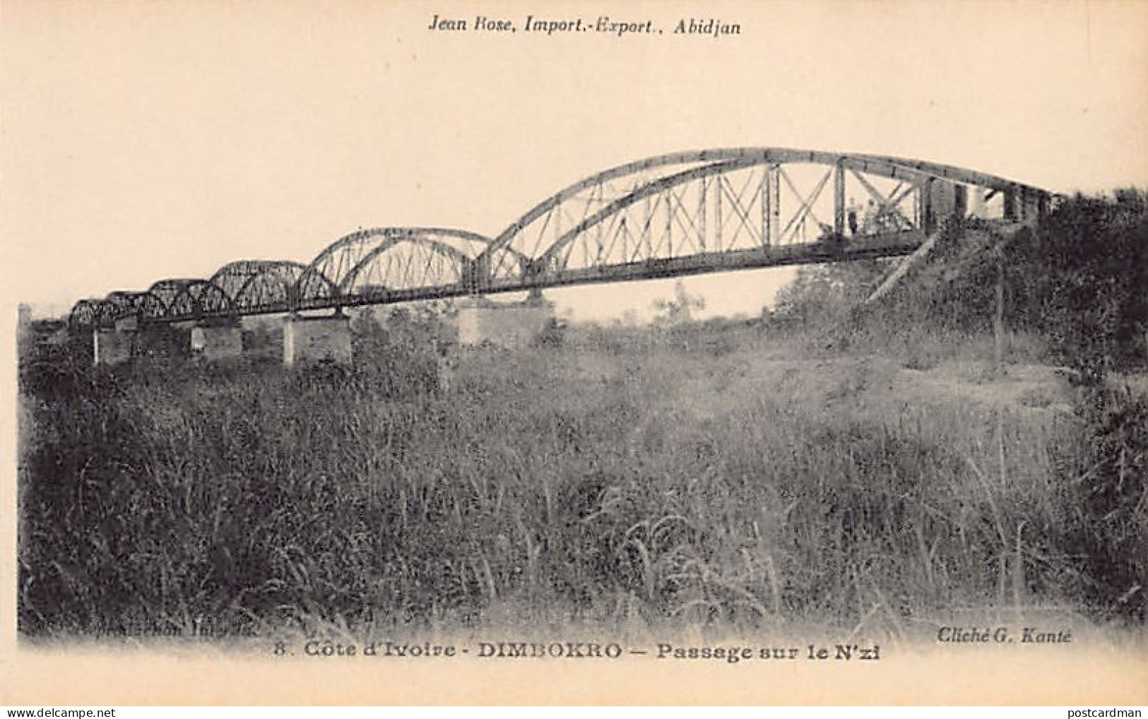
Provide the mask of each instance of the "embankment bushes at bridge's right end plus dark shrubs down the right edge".
[{"label": "embankment bushes at bridge's right end plus dark shrubs down the right edge", "polygon": [[1087,566],[1080,575],[1093,598],[1142,620],[1148,392],[1128,373],[1142,378],[1148,369],[1148,195],[1077,196],[1011,235],[954,222],[928,263],[879,303],[864,304],[889,269],[804,269],[770,319],[814,349],[879,351],[913,369],[968,357],[971,348],[984,373],[996,376],[993,334],[1003,360],[1062,366],[1077,386],[1072,449],[1054,463],[1060,498],[1072,510],[1058,520],[1063,547],[1076,548]]}]

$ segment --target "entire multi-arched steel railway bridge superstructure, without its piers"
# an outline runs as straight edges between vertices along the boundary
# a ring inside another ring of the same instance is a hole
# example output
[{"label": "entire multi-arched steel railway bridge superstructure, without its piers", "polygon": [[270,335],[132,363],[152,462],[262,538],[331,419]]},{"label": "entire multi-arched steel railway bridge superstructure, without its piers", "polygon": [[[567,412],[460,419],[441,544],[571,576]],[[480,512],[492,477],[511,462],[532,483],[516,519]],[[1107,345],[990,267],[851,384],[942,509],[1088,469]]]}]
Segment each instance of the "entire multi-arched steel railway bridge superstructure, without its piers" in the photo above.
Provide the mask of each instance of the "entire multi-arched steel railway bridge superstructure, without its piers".
[{"label": "entire multi-arched steel railway bridge superstructure, without its piers", "polygon": [[82,300],[73,328],[236,319],[615,283],[737,269],[891,257],[951,216],[1025,223],[1045,190],[962,168],[784,148],[684,152],[587,177],[495,237],[379,227],[310,263],[245,260],[208,278]]}]

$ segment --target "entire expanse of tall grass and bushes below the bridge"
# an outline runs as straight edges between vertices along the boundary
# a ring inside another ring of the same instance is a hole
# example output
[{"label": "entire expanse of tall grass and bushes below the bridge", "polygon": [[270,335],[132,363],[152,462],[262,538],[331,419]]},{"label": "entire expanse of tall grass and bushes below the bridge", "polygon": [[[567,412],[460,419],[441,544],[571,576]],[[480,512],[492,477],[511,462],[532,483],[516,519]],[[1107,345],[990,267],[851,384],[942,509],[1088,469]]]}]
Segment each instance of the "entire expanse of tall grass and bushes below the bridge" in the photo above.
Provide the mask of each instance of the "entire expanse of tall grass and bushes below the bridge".
[{"label": "entire expanse of tall grass and bushes below the bridge", "polygon": [[1080,199],[1004,249],[1006,358],[1073,369],[1064,407],[952,391],[993,377],[999,266],[957,226],[864,310],[883,266],[519,353],[406,312],[352,370],[28,361],[21,631],[1142,623],[1145,218]]}]

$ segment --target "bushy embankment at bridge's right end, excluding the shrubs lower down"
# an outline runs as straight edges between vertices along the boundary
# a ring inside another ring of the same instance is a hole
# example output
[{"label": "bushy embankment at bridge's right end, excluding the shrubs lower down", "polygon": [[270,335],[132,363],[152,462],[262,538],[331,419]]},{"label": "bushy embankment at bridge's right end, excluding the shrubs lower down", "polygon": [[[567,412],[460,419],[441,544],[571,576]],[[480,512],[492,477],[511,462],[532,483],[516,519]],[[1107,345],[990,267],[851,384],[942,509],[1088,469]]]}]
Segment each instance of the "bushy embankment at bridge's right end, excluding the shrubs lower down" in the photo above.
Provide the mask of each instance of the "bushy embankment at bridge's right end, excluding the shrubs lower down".
[{"label": "bushy embankment at bridge's right end, excluding the shrubs lower down", "polygon": [[802,269],[779,294],[773,319],[871,348],[920,345],[923,335],[985,335],[999,310],[1010,335],[1035,340],[1017,350],[1069,366],[1081,382],[1148,364],[1143,192],[1066,200],[1037,227],[1011,235],[986,223],[953,222],[910,281],[863,306],[889,269],[885,262]]}]

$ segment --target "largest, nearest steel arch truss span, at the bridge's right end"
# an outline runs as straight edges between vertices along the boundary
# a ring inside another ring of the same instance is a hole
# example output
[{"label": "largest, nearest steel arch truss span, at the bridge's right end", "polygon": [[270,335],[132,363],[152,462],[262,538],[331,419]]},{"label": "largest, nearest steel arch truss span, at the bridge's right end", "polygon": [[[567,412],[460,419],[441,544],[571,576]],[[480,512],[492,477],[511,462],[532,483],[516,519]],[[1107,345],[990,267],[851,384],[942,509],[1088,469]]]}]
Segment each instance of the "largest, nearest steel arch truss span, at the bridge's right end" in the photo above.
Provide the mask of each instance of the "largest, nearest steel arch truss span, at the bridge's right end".
[{"label": "largest, nearest steel arch truss span, at the bridge's right end", "polygon": [[[1024,219],[1048,194],[952,165],[788,148],[675,153],[599,172],[530,208],[476,261],[476,291],[607,281],[920,245],[952,214]],[[507,248],[526,271],[505,266]],[[689,262],[693,258],[696,262]]]}]

